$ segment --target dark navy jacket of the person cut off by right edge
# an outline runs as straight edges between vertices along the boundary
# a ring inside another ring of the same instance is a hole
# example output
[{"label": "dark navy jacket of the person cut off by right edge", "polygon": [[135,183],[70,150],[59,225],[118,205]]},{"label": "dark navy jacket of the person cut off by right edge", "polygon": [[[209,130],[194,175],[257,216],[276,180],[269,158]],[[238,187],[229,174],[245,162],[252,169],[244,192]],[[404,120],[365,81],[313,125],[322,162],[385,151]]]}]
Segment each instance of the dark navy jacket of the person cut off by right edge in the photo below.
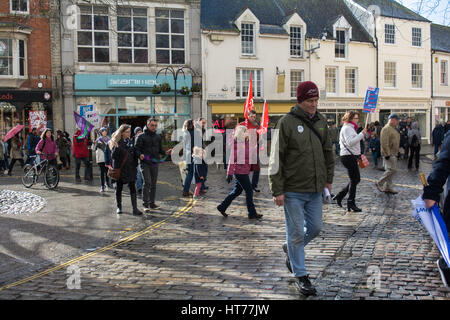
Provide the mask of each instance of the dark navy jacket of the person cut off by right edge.
[{"label": "dark navy jacket of the person cut off by right edge", "polygon": [[[450,133],[447,133],[444,138],[441,153],[439,158],[433,163],[433,171],[428,176],[428,185],[423,188],[424,199],[431,199],[434,201],[440,200],[440,194],[446,181],[447,188],[450,187]],[[447,192],[447,197],[444,202],[444,216],[450,215],[450,196]]]}]

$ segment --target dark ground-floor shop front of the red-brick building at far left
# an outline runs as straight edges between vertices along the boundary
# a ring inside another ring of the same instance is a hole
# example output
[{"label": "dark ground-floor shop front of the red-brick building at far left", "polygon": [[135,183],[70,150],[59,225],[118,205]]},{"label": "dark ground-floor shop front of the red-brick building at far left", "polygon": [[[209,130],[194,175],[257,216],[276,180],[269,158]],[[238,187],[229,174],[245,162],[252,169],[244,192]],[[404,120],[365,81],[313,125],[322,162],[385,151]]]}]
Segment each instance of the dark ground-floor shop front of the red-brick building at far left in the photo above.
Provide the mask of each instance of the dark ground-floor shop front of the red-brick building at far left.
[{"label": "dark ground-floor shop front of the red-brick building at far left", "polygon": [[0,90],[0,131],[8,132],[18,124],[23,134],[32,128],[53,128],[52,91]]}]

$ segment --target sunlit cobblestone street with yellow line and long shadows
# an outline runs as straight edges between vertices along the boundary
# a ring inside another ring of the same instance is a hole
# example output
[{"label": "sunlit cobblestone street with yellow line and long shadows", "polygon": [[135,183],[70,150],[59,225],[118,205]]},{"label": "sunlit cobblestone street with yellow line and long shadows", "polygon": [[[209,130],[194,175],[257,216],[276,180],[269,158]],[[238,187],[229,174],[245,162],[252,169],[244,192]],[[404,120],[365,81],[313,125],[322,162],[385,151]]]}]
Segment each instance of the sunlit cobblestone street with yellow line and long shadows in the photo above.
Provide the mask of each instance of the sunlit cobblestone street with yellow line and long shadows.
[{"label": "sunlit cobblestone street with yellow line and long shadows", "polygon": [[[420,179],[399,163],[398,195],[381,194],[374,181],[382,172],[369,167],[358,186],[362,213],[324,205],[323,230],[306,250],[318,291],[308,300],[450,298],[436,266],[439,253],[411,216]],[[420,171],[430,170],[422,157]],[[97,182],[76,185],[62,173],[59,191],[25,190],[19,173],[0,177],[2,189],[27,191],[47,204],[28,215],[0,213],[0,299],[305,299],[285,266],[284,213],[266,177],[255,194],[261,221],[248,220],[242,196],[228,218],[220,215],[216,206],[231,184],[215,166],[204,198],[182,198],[173,164],[160,168],[161,209],[117,219],[112,191],[100,195]],[[333,191],[347,179],[338,161]],[[130,212],[128,195],[124,204]]]}]

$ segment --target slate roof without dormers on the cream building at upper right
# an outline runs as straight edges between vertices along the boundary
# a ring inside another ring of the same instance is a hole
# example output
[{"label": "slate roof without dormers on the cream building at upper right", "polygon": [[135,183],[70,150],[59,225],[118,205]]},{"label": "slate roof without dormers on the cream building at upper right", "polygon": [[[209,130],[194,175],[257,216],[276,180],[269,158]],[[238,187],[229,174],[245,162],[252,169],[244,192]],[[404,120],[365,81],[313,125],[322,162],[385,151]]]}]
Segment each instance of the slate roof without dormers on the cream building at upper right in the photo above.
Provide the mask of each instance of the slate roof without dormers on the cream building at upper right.
[{"label": "slate roof without dormers on the cream building at upper right", "polygon": [[414,11],[406,8],[394,0],[353,0],[360,6],[368,8],[370,5],[376,5],[380,8],[380,14],[383,17],[391,17],[406,20],[430,22]]}]

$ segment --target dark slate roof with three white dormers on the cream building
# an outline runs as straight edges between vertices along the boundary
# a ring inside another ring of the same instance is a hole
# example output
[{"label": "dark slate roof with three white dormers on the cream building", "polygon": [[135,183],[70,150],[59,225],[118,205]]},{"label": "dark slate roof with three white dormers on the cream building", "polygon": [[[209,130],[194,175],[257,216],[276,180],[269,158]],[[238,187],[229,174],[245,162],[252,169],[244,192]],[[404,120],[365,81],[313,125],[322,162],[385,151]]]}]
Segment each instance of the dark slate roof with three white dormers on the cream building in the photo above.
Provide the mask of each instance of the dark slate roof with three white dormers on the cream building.
[{"label": "dark slate roof with three white dormers on the cream building", "polygon": [[320,38],[327,31],[333,38],[333,23],[342,15],[352,25],[352,40],[372,42],[343,0],[202,0],[201,28],[238,31],[234,21],[249,8],[260,21],[260,32],[286,34],[283,24],[297,12],[307,25],[307,37]]}]

